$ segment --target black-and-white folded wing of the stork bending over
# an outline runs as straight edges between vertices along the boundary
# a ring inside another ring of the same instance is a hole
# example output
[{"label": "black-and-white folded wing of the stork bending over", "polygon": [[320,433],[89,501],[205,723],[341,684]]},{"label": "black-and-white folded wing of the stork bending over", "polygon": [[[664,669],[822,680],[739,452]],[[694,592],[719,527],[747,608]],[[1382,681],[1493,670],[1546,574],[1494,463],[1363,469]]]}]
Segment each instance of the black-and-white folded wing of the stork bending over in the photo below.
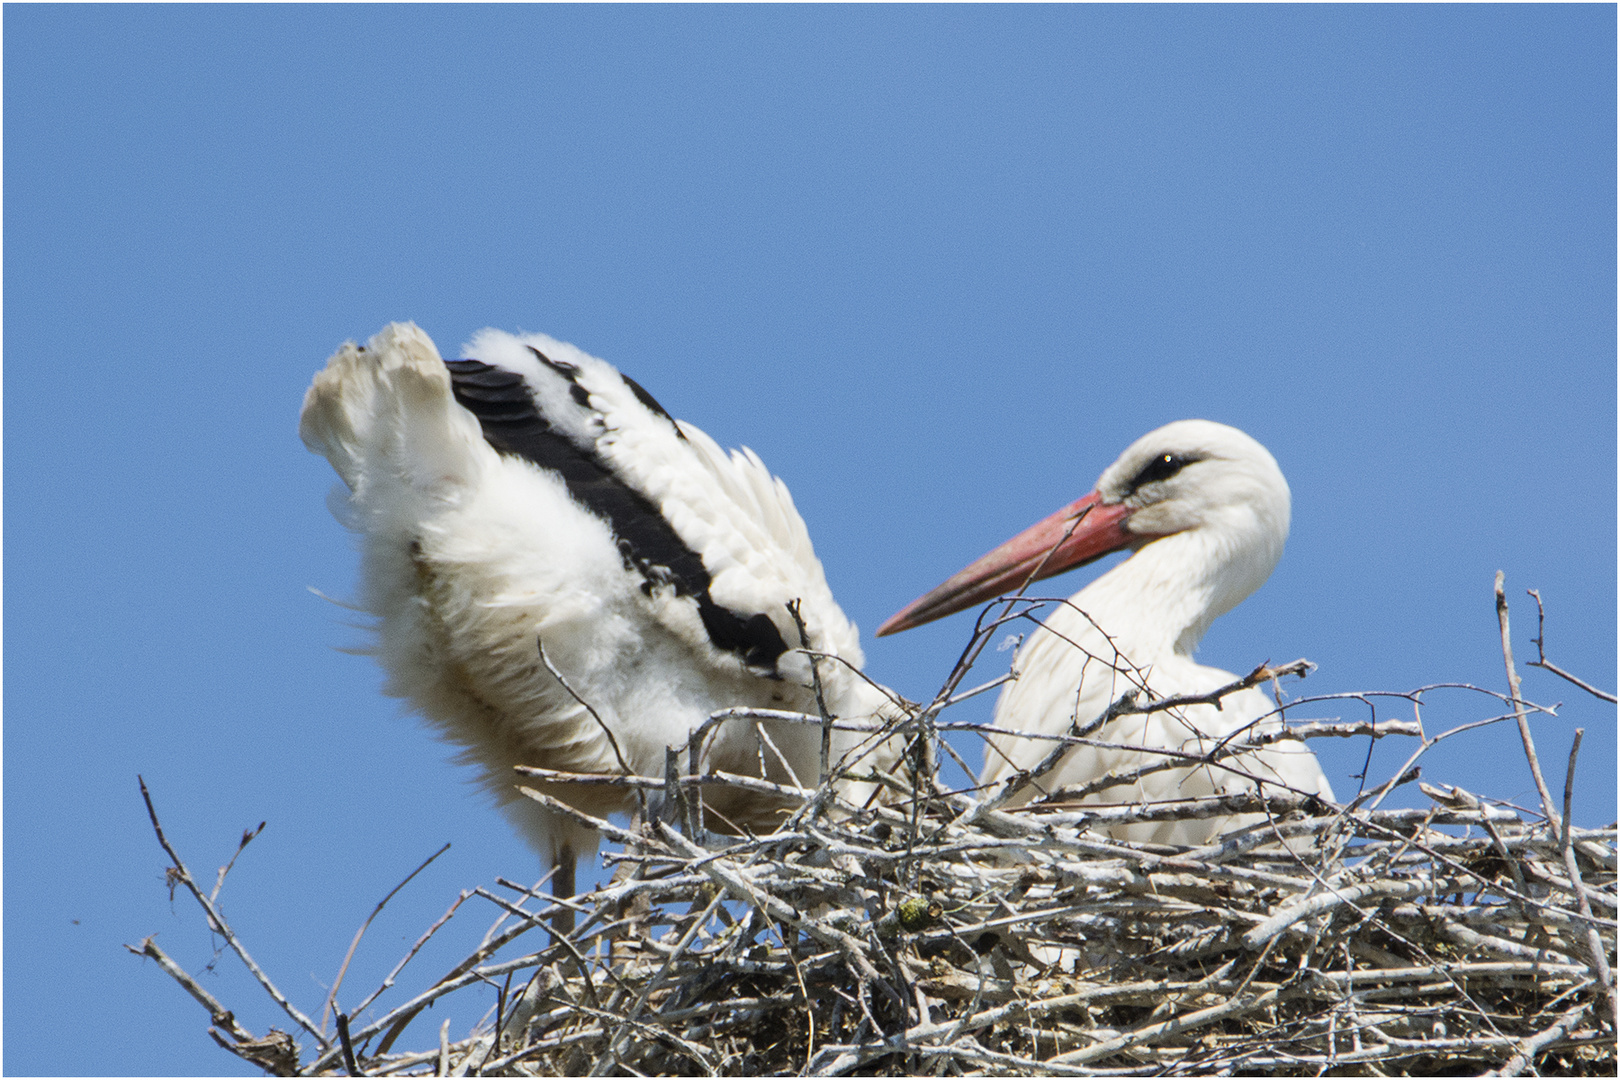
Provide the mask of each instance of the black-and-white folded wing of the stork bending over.
[{"label": "black-and-white folded wing of the stork bending over", "polygon": [[654,617],[671,599],[690,604],[703,644],[776,674],[799,644],[787,607],[799,601],[812,648],[862,662],[787,487],[757,455],[726,453],[611,364],[546,335],[484,330],[463,353],[447,363],[457,402],[491,447],[561,476],[608,525]]}]

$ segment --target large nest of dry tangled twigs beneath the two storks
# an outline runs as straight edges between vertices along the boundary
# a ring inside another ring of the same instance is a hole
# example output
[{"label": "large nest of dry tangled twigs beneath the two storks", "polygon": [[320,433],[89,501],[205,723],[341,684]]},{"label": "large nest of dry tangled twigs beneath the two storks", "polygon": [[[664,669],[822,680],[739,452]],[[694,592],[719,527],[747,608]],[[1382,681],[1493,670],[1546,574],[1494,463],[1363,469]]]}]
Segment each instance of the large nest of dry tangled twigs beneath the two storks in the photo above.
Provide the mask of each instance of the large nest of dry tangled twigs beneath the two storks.
[{"label": "large nest of dry tangled twigs beneath the two storks", "polygon": [[[1262,667],[1213,696],[1286,670],[1301,669]],[[771,836],[705,827],[706,787],[758,779],[530,771],[659,790],[659,811],[625,829],[528,792],[604,832],[612,879],[572,900],[507,881],[463,894],[335,1031],[253,965],[164,840],[303,1046],[241,1028],[151,941],[136,950],[209,1009],[220,1046],[277,1075],[1614,1075],[1615,827],[1571,827],[1568,784],[1557,813],[1524,724],[1539,706],[1511,682],[1477,693],[1503,703],[1490,719],[1520,724],[1541,814],[1427,784],[1429,805],[1382,810],[1427,746],[1477,722],[1427,735],[1379,719],[1288,729],[1414,740],[1398,776],[1343,806],[1262,789],[1129,805],[1058,790],[1009,808],[1030,774],[995,790],[940,780],[943,735],[974,727],[941,719],[962,698],[948,683],[889,730],[909,745],[904,779],[860,777],[886,782],[885,800],[766,785],[797,806]],[[1231,814],[1259,824],[1197,848],[1111,839]],[[376,1009],[473,895],[509,920],[446,978]],[[473,1031],[433,1040],[423,1009],[491,984]]]}]

